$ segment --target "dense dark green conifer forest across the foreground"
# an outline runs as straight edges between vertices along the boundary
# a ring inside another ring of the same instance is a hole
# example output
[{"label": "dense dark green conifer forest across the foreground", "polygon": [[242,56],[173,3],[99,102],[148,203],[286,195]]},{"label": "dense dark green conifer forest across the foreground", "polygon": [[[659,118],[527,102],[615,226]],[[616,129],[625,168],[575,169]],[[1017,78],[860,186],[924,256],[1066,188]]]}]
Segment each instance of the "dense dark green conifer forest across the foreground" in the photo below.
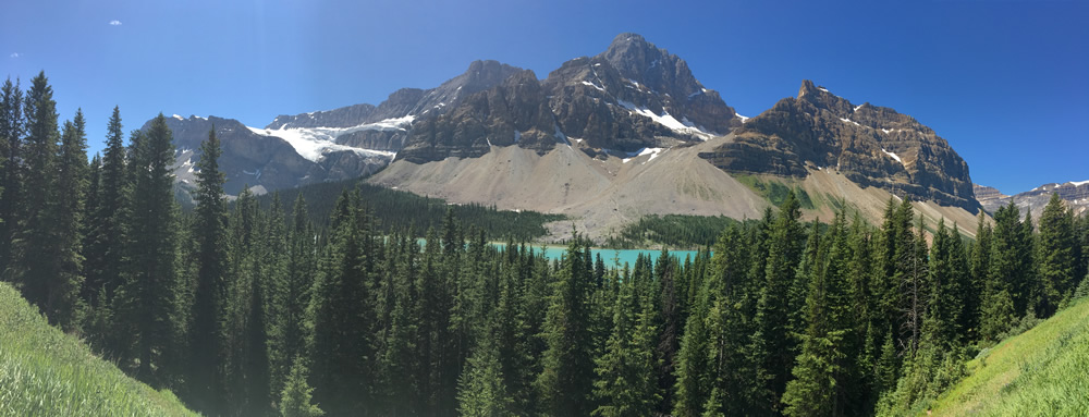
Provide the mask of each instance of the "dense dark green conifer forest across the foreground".
[{"label": "dense dark green conifer forest across the foreground", "polygon": [[183,211],[163,116],[97,122],[88,163],[45,74],[4,83],[2,279],[205,415],[900,414],[1089,293],[1089,220],[1057,196],[969,238],[906,199],[806,223],[788,193],[693,258],[607,265],[576,232],[550,260],[472,211],[391,226],[354,186],[229,205],[215,132]]}]

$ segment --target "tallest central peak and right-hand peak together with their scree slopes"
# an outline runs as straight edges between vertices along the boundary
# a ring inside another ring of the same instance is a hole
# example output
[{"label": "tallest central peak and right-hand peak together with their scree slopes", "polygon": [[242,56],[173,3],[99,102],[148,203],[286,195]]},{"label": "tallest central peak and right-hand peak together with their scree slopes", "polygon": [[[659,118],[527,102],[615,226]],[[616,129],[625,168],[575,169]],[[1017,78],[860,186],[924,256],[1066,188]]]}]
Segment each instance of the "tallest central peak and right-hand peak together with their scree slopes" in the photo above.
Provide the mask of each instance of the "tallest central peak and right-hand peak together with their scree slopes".
[{"label": "tallest central peak and right-hand peak together with their scree slopes", "polygon": [[[849,205],[880,221],[895,195],[920,200],[931,224],[970,228],[979,208],[967,163],[915,119],[807,81],[797,98],[746,122],[685,61],[634,34],[541,82],[515,73],[421,115],[370,181],[566,213],[591,236],[649,213],[758,218],[788,188],[807,193],[807,216],[822,218]],[[565,232],[570,224],[552,231]]]}]

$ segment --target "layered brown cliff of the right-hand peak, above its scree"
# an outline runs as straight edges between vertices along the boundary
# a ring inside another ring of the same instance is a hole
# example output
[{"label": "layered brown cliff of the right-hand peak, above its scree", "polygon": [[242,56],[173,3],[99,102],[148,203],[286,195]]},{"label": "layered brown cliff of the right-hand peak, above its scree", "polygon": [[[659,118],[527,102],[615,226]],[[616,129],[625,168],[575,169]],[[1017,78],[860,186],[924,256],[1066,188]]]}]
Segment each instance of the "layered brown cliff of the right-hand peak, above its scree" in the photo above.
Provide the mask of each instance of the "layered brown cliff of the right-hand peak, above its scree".
[{"label": "layered brown cliff of the right-hand peak, above its scree", "polygon": [[906,114],[852,105],[812,82],[735,131],[702,157],[727,172],[805,177],[832,169],[864,186],[975,211],[968,164],[934,131]]}]

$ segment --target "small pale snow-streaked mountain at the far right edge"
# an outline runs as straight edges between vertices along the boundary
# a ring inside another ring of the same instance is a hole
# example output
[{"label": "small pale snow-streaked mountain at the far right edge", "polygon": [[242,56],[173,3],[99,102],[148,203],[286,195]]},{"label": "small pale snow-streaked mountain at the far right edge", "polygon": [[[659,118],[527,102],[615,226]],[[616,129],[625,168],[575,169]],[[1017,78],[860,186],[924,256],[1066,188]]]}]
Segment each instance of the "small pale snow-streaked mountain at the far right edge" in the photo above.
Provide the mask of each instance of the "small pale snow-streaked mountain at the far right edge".
[{"label": "small pale snow-streaked mountain at the far right edge", "polygon": [[984,210],[992,213],[999,207],[1008,205],[1010,200],[1013,199],[1023,214],[1031,210],[1032,218],[1039,219],[1040,213],[1043,212],[1043,208],[1048,206],[1048,201],[1051,200],[1051,195],[1054,193],[1059,193],[1059,198],[1065,200],[1067,205],[1074,208],[1076,213],[1089,210],[1089,181],[1043,184],[1013,196],[1007,196],[986,185],[974,184],[974,186],[976,188],[976,198],[979,199]]}]

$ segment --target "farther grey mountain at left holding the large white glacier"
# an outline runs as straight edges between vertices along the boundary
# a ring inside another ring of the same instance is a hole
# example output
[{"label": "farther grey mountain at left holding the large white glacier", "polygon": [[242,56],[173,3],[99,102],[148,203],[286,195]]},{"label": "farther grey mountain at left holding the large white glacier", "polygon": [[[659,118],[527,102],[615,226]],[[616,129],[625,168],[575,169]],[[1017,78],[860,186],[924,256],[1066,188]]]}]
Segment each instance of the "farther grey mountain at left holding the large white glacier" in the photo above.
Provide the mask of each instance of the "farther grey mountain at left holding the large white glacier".
[{"label": "farther grey mountain at left holding the large white glacier", "polygon": [[416,115],[441,113],[448,103],[490,88],[517,71],[495,61],[476,61],[464,74],[439,87],[403,88],[378,107],[356,105],[279,115],[264,128],[233,119],[174,115],[167,120],[174,134],[174,174],[183,189],[195,184],[193,164],[200,158],[200,143],[212,125],[223,146],[220,169],[227,174],[225,191],[231,195],[247,185],[262,194],[370,174],[404,147]]}]

